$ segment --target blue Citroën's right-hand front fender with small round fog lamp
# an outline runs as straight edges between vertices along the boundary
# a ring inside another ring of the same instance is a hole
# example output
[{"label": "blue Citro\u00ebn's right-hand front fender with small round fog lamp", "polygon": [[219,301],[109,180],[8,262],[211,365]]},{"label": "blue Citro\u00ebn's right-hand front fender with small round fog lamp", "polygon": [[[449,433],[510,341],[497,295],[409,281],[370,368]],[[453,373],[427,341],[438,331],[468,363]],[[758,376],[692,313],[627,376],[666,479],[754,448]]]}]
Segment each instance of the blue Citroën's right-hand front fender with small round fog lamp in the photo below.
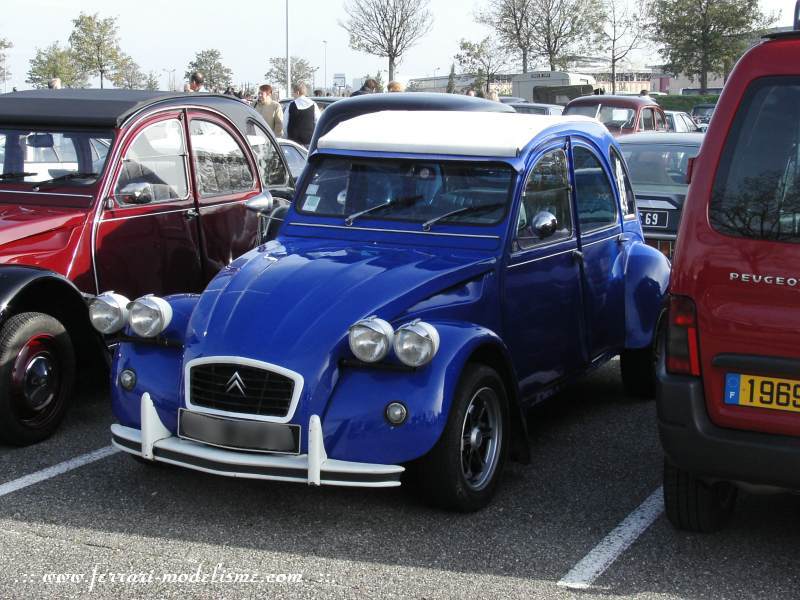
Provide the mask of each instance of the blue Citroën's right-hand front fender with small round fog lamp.
[{"label": "blue Citro\u00ebn's right-hand front fender with small round fog lamp", "polygon": [[[416,370],[344,367],[322,418],[328,456],[341,460],[406,463],[427,454],[447,423],[456,386],[470,356],[485,345],[507,350],[492,331],[472,323],[431,321],[441,344],[434,360]],[[509,391],[513,393],[513,391]],[[405,423],[393,426],[386,405],[403,402]]]}]

